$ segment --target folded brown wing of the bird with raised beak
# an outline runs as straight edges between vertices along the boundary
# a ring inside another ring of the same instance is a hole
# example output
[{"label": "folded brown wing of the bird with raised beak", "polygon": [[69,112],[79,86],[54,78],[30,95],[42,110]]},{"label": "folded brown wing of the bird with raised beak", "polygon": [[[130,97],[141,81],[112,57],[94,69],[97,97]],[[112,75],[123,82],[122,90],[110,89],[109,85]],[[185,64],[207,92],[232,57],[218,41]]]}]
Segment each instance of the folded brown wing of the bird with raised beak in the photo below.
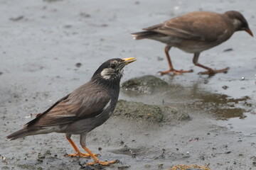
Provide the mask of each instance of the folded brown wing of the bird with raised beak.
[{"label": "folded brown wing of the bird with raised beak", "polygon": [[99,115],[110,102],[110,95],[105,90],[74,92],[68,97],[60,99],[46,112],[41,113],[26,125],[28,127],[31,125],[43,127],[73,123],[80,119]]}]

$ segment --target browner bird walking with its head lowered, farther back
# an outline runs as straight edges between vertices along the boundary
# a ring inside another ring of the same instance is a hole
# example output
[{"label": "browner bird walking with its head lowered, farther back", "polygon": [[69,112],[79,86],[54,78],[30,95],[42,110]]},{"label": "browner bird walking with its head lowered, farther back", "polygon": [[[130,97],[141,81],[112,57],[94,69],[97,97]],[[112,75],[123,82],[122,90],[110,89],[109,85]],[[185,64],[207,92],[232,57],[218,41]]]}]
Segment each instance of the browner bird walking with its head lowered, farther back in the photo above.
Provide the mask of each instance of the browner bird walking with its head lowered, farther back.
[{"label": "browner bird walking with its head lowered, farther back", "polygon": [[196,11],[172,18],[156,26],[143,28],[143,30],[145,31],[132,33],[135,40],[148,38],[166,44],[164,52],[169,62],[169,70],[161,72],[162,75],[169,72],[174,72],[174,74],[193,72],[193,70],[174,69],[169,56],[171,47],[178,47],[184,52],[193,53],[193,64],[208,70],[201,74],[215,74],[227,72],[228,68],[216,70],[199,64],[198,58],[201,52],[220,45],[238,30],[245,30],[253,37],[245,17],[238,11],[227,11],[222,14]]}]

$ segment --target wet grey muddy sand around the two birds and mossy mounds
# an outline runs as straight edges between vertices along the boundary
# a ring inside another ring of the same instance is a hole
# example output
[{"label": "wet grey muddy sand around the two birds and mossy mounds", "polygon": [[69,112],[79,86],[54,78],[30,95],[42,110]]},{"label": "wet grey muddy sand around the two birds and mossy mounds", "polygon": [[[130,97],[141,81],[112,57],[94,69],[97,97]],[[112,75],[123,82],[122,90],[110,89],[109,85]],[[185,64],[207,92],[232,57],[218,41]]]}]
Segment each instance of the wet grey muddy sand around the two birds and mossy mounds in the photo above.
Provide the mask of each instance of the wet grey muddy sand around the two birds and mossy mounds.
[{"label": "wet grey muddy sand around the two birds and mossy mounds", "polygon": [[[91,159],[68,158],[73,149],[63,134],[8,141],[59,98],[87,82],[113,57],[137,57],[122,82],[168,69],[164,44],[132,40],[129,33],[190,11],[240,11],[256,33],[256,1],[1,1],[0,167],[1,169],[80,169]],[[213,77],[192,63],[193,55],[171,49],[176,69],[193,73],[160,77],[175,85],[154,94],[119,98],[171,106],[191,120],[152,123],[112,116],[87,135],[87,147],[110,167],[82,169],[170,169],[176,164],[209,164],[214,170],[256,169],[255,38],[235,33],[201,54],[199,62],[227,74]],[[233,50],[224,52],[226,49]],[[78,64],[80,63],[80,64]],[[80,67],[79,67],[80,66]],[[164,101],[164,102],[163,102]],[[79,137],[73,136],[76,143]],[[163,153],[164,149],[164,153]]]}]

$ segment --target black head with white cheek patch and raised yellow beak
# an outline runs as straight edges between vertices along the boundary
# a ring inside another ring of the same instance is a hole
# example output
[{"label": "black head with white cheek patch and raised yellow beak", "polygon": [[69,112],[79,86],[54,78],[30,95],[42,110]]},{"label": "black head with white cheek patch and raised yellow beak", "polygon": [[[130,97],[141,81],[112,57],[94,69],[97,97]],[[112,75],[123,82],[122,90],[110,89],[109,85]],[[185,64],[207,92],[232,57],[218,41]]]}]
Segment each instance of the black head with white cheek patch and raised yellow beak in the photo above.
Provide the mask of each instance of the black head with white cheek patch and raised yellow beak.
[{"label": "black head with white cheek patch and raised yellow beak", "polygon": [[131,63],[136,61],[136,58],[114,58],[107,60],[101,64],[101,66],[96,70],[95,74],[92,76],[92,81],[96,81],[100,84],[119,84],[120,79],[122,78],[123,68]]}]

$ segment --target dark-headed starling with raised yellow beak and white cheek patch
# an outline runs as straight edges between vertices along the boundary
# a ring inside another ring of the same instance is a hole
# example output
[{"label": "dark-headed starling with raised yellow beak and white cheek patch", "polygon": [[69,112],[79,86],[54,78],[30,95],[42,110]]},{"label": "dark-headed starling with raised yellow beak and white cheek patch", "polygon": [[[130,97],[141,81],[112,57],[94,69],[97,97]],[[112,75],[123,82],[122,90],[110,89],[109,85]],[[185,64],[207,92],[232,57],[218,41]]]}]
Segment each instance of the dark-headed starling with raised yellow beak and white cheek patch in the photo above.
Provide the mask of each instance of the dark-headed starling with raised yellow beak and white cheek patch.
[{"label": "dark-headed starling with raised yellow beak and white cheek patch", "polygon": [[[65,133],[65,137],[75,149],[70,157],[92,157],[94,162],[87,165],[101,164],[108,166],[115,163],[102,162],[85,145],[87,132],[102,125],[110,118],[119,96],[119,82],[123,68],[134,62],[134,57],[114,58],[104,62],[86,84],[75,89],[71,94],[61,98],[47,111],[39,113],[36,118],[24,125],[23,129],[9,135],[7,139],[16,140],[28,135],[50,132]],[[71,135],[80,135],[80,145],[87,152],[84,154],[76,147]]]}]

